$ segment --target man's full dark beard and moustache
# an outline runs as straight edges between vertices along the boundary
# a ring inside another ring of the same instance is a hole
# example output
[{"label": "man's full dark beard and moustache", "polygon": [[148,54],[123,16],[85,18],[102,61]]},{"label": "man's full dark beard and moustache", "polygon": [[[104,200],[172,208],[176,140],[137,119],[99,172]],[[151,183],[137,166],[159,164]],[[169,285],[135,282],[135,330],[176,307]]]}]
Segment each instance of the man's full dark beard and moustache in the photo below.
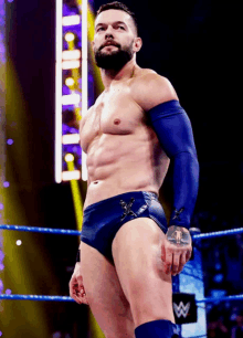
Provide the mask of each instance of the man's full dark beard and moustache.
[{"label": "man's full dark beard and moustache", "polygon": [[109,54],[103,53],[103,47],[94,51],[95,63],[99,68],[119,71],[133,59],[133,42],[128,46],[122,47],[120,44],[116,44],[116,46],[118,50],[112,51]]}]

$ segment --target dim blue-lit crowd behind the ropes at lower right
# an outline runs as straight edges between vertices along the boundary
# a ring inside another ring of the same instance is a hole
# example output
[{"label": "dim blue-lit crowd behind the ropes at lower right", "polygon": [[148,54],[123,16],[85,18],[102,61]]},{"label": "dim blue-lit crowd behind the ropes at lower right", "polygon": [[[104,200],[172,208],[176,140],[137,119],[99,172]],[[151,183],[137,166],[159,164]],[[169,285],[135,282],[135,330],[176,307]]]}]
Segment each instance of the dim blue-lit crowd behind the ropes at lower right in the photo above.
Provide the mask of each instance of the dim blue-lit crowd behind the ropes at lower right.
[{"label": "dim blue-lit crowd behind the ropes at lower right", "polygon": [[[241,228],[243,209],[224,213],[219,205],[215,202],[194,213],[193,226],[203,233]],[[203,240],[200,247],[205,297],[242,294],[243,234]],[[242,300],[207,304],[205,308],[209,338],[243,338]]]}]

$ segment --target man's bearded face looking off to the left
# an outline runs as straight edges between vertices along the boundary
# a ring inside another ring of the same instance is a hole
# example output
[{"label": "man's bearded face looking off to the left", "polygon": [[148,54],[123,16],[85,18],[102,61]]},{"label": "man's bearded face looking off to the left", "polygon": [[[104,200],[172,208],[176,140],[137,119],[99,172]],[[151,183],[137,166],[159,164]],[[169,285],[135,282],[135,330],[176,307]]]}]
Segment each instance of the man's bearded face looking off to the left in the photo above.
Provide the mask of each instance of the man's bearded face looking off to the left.
[{"label": "man's bearded face looking off to the left", "polygon": [[97,66],[120,70],[133,59],[135,38],[134,22],[128,13],[107,10],[98,14],[93,42]]}]

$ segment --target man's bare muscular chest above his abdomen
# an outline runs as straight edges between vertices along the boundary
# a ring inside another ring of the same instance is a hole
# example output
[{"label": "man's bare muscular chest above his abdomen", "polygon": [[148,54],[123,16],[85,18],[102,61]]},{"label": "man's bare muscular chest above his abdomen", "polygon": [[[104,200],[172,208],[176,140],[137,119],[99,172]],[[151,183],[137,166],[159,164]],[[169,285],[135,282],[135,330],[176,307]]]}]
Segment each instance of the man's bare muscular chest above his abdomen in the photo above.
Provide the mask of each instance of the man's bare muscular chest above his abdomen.
[{"label": "man's bare muscular chest above his abdomen", "polygon": [[115,88],[101,95],[84,117],[81,127],[81,147],[88,146],[103,134],[127,135],[145,124],[141,107],[133,99],[129,88]]}]

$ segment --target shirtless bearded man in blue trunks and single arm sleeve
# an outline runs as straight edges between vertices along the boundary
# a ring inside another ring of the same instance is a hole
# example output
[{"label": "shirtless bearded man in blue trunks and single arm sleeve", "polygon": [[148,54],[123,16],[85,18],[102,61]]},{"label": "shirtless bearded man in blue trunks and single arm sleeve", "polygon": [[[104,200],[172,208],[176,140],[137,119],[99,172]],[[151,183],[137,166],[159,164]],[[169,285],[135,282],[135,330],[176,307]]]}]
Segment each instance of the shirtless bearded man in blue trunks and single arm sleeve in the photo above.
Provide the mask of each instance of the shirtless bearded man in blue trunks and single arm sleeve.
[{"label": "shirtless bearded man in blue trunks and single arm sleeve", "polygon": [[[88,304],[106,338],[178,337],[171,275],[191,255],[199,165],[190,120],[170,82],[136,63],[134,14],[99,8],[93,50],[105,91],[82,118],[87,194],[70,295]],[[159,189],[173,166],[167,225]]]}]

